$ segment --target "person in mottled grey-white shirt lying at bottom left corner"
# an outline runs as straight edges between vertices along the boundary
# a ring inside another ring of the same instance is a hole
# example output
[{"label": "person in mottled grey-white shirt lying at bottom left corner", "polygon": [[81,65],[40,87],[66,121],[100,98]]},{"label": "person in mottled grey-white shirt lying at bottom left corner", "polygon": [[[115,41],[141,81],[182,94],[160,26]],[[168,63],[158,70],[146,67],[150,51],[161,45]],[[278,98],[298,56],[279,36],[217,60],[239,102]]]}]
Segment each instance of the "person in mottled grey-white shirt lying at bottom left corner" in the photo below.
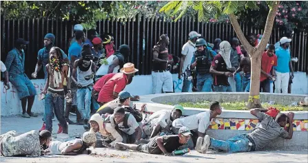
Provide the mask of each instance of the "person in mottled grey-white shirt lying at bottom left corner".
[{"label": "person in mottled grey-white shirt lying at bottom left corner", "polygon": [[48,146],[52,135],[50,131],[29,131],[16,136],[16,131],[0,135],[0,153],[3,156],[40,156],[41,146]]}]

